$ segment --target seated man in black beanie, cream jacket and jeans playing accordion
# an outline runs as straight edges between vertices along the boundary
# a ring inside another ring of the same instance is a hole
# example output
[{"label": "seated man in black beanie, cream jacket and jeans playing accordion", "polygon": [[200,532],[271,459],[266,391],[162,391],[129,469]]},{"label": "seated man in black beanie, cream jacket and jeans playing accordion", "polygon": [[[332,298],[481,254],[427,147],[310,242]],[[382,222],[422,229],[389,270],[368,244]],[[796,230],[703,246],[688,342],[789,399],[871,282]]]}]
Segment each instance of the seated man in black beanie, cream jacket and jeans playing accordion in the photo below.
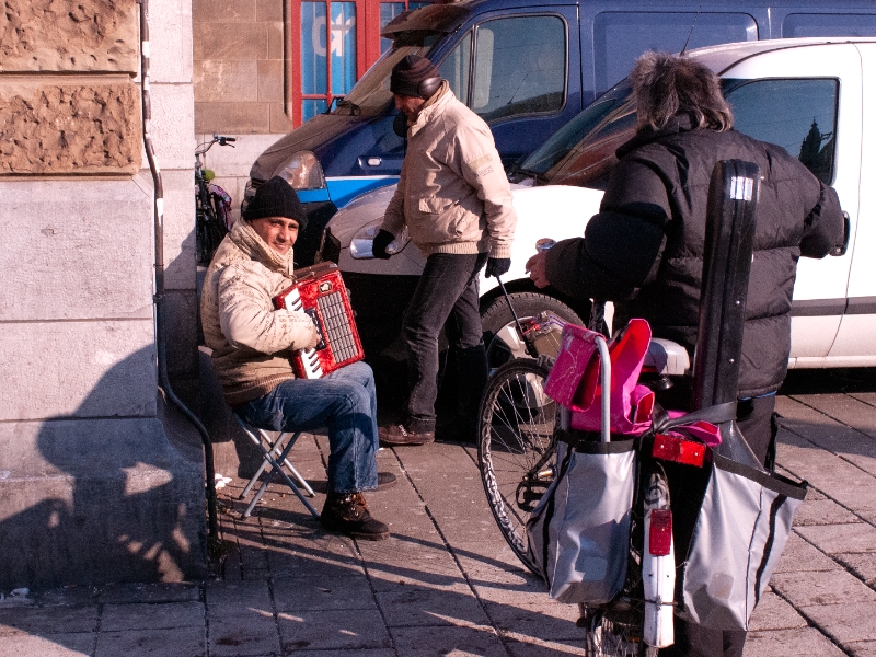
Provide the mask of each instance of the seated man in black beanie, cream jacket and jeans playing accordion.
[{"label": "seated man in black beanie, cream jacket and jeans playing accordion", "polygon": [[[226,402],[245,423],[273,431],[327,428],[323,527],[381,540],[389,528],[371,517],[362,496],[378,487],[371,368],[360,361],[321,379],[296,378],[292,353],[314,347],[319,332],[306,312],[273,303],[295,283],[292,245],[306,223],[285,180],[276,176],[258,187],[207,269],[200,301],[204,338]],[[394,481],[392,474],[380,479]]]}]

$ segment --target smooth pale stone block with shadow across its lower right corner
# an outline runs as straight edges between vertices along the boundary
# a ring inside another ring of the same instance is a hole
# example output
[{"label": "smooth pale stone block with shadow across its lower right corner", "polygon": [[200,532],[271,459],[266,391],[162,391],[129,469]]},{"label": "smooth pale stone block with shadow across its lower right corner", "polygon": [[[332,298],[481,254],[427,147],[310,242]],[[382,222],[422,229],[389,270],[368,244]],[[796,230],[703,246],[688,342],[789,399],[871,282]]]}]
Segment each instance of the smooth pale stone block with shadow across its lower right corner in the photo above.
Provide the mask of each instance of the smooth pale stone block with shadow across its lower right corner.
[{"label": "smooth pale stone block with shadow across its lower right corner", "polygon": [[152,319],[3,327],[0,420],[155,414]]}]

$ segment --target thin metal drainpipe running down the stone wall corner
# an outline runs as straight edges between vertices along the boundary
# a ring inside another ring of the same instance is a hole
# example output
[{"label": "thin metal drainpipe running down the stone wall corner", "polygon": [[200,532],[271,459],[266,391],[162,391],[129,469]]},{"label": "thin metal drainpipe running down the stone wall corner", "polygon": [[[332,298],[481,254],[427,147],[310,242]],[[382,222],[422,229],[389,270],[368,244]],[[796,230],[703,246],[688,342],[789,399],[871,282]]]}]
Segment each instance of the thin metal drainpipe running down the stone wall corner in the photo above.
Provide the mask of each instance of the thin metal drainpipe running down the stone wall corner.
[{"label": "thin metal drainpipe running down the stone wall corner", "polygon": [[212,463],[212,442],[206,427],[197,416],[176,396],[168,378],[166,349],[164,344],[164,187],[161,183],[161,172],[155,163],[155,152],[152,147],[150,124],[152,108],[149,95],[149,0],[137,0],[140,5],[140,82],[142,85],[143,106],[143,145],[149,170],[152,172],[152,182],[155,188],[154,196],[154,246],[155,246],[155,337],[158,343],[158,377],[159,385],[168,399],[173,402],[183,415],[195,425],[204,443],[204,464],[207,471],[207,515],[208,523],[208,553],[209,548],[219,540],[219,523],[216,517],[216,473]]}]

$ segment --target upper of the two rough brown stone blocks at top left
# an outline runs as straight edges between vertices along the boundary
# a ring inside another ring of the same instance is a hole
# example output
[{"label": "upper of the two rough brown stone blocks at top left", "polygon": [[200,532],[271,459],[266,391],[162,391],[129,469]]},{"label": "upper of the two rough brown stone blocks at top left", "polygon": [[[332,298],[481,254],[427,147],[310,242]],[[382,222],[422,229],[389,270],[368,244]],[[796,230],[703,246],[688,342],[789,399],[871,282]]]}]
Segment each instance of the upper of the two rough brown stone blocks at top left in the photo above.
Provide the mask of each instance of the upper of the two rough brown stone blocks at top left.
[{"label": "upper of the two rough brown stone blocks at top left", "polygon": [[139,68],[135,0],[7,0],[0,71],[119,71]]}]

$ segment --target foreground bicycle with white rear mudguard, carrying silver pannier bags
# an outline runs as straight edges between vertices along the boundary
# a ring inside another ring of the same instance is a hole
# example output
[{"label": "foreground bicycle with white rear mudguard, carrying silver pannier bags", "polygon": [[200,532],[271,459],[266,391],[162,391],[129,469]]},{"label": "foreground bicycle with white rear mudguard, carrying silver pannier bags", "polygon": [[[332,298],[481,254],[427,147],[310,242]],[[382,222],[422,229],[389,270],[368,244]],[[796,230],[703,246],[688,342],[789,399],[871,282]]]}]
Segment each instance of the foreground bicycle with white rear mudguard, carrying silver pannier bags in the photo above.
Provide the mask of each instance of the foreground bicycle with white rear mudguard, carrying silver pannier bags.
[{"label": "foreground bicycle with white rear mudguard, carrying silver pannier bags", "polygon": [[[529,553],[527,522],[557,474],[557,429],[569,427],[570,414],[544,392],[552,357],[539,355],[532,339],[543,323],[538,316],[518,319],[512,307],[511,313],[530,358],[516,358],[503,365],[487,384],[479,424],[479,465],[491,510],[504,538],[520,562],[541,577]],[[601,307],[597,303],[591,325],[600,324],[601,320]],[[668,346],[655,344],[661,348]],[[655,372],[657,368],[652,362],[648,369]],[[656,377],[653,373],[645,377],[664,385],[669,371],[664,368],[662,372],[655,372]],[[608,382],[603,381],[603,385]],[[603,440],[608,440],[608,435]],[[656,656],[658,648],[643,641],[643,630],[649,632],[646,635],[653,642],[660,636],[660,645],[668,645],[660,635],[668,631],[671,643],[675,581],[671,541],[669,550],[658,555],[643,548],[652,522],[665,521],[661,514],[669,508],[668,483],[662,469],[653,464],[643,481],[646,483],[632,517],[623,591],[610,606],[579,606],[578,625],[586,630],[587,654],[593,657]],[[660,528],[655,529],[659,532]],[[643,577],[643,569],[648,576]],[[660,585],[653,586],[658,579]]]}]

